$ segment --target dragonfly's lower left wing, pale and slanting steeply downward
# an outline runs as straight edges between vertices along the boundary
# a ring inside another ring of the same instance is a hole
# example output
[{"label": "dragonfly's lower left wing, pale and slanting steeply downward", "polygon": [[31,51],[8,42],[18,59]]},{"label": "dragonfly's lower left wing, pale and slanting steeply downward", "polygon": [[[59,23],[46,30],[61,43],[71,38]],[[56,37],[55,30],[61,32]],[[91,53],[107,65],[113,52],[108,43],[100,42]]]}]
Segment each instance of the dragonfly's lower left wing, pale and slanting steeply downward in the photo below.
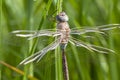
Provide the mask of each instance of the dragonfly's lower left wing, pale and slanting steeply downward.
[{"label": "dragonfly's lower left wing, pale and slanting steeply downward", "polygon": [[60,38],[56,39],[53,43],[51,43],[50,45],[48,45],[47,47],[45,47],[44,49],[42,49],[39,52],[36,52],[35,54],[31,55],[30,57],[24,59],[21,64],[28,64],[30,62],[38,62],[39,60],[41,60],[41,58],[50,50],[55,49],[60,43]]}]

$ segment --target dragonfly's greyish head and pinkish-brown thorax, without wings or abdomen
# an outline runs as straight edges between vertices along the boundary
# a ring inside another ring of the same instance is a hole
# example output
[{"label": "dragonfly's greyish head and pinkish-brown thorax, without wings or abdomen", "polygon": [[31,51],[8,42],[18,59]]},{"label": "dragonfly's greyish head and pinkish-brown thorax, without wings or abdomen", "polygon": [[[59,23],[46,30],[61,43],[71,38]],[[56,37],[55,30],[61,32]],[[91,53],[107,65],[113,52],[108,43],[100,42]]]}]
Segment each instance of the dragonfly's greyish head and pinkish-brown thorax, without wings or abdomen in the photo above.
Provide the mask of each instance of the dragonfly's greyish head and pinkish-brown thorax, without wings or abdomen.
[{"label": "dragonfly's greyish head and pinkish-brown thorax, without wings or abdomen", "polygon": [[61,34],[61,44],[67,44],[70,36],[70,28],[68,24],[68,16],[65,12],[61,12],[57,15],[57,31]]}]

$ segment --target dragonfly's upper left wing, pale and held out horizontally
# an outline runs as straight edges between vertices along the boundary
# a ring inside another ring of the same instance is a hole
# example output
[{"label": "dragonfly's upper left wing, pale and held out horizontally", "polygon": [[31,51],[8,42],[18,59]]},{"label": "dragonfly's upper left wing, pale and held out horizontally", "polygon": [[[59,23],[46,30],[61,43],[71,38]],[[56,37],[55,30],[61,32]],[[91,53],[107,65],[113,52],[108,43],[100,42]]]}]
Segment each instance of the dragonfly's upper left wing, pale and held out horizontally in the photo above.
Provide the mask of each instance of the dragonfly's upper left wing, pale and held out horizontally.
[{"label": "dragonfly's upper left wing, pale and held out horizontally", "polygon": [[39,36],[58,36],[60,35],[59,32],[56,32],[55,30],[52,29],[47,29],[47,30],[40,30],[40,31],[31,31],[31,30],[16,30],[13,31],[16,36],[19,37],[28,37],[28,39],[33,39],[35,37]]}]

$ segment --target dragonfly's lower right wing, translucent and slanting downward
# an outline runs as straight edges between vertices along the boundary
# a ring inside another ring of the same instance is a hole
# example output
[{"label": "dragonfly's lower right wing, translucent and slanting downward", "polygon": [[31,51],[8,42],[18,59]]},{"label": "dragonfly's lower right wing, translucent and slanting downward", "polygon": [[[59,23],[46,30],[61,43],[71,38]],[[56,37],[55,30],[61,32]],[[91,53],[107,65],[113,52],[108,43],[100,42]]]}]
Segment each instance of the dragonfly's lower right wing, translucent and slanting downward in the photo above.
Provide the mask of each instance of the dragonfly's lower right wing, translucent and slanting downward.
[{"label": "dragonfly's lower right wing, translucent and slanting downward", "polygon": [[77,39],[72,38],[72,37],[70,37],[69,42],[72,43],[73,45],[84,47],[84,48],[88,49],[89,51],[96,51],[99,53],[108,53],[108,52],[114,53],[114,51],[111,49],[92,45],[92,44],[87,44],[83,41],[78,41]]}]

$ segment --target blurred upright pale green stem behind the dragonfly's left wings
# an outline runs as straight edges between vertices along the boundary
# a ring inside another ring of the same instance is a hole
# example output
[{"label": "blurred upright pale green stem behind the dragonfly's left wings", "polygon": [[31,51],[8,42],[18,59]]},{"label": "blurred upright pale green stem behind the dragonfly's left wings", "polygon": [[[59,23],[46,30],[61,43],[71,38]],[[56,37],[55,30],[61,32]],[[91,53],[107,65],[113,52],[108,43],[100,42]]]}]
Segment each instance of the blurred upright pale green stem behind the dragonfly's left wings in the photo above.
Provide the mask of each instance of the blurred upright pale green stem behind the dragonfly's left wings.
[{"label": "blurred upright pale green stem behind the dragonfly's left wings", "polygon": [[[30,30],[33,29],[33,0],[26,0],[24,1],[24,6],[26,10],[26,28],[29,28]],[[32,46],[33,46],[33,40],[29,41],[29,54],[32,55]],[[28,57],[28,54],[25,54],[25,57]],[[27,75],[33,76],[34,71],[33,71],[33,63],[30,65],[26,65],[24,67],[25,75],[23,77],[23,80],[27,80]]]}]

